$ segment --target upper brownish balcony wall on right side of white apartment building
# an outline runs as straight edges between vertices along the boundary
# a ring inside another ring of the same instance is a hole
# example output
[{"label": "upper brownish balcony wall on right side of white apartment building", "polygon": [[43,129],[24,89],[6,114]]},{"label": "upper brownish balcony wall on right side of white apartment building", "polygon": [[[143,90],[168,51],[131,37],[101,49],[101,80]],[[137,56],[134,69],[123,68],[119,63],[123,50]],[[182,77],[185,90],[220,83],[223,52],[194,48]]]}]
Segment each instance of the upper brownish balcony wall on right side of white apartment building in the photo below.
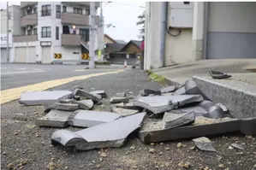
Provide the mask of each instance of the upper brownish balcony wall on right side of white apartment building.
[{"label": "upper brownish balcony wall on right side of white apartment building", "polygon": [[75,26],[89,26],[89,15],[63,13],[62,23],[75,25]]}]

